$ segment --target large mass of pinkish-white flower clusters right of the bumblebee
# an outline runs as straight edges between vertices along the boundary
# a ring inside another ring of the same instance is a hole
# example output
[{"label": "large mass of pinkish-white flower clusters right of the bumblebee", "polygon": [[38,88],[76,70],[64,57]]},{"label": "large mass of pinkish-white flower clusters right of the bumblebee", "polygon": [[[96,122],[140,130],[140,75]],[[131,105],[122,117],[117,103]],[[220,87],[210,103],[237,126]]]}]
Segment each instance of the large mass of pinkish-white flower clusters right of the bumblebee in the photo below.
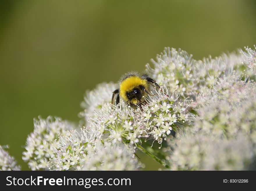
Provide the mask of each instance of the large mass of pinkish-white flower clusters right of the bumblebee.
[{"label": "large mass of pinkish-white flower clusters right of the bumblebee", "polygon": [[192,95],[192,112],[198,115],[191,128],[168,138],[164,151],[171,151],[166,157],[171,169],[246,170],[255,165],[255,59],[250,48],[202,61],[166,48],[153,61],[155,69],[147,65],[160,84],[169,89],[171,84],[183,97]]}]

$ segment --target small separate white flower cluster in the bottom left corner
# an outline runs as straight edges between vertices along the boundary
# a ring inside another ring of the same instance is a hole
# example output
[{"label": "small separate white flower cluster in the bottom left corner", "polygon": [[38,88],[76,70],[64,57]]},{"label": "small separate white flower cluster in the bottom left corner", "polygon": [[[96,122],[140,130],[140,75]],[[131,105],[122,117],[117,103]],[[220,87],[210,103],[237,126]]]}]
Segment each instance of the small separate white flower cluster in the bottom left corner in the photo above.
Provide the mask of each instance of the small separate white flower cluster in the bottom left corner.
[{"label": "small separate white flower cluster in the bottom left corner", "polygon": [[1,170],[20,170],[14,157],[10,156],[7,151],[0,145],[0,171]]}]

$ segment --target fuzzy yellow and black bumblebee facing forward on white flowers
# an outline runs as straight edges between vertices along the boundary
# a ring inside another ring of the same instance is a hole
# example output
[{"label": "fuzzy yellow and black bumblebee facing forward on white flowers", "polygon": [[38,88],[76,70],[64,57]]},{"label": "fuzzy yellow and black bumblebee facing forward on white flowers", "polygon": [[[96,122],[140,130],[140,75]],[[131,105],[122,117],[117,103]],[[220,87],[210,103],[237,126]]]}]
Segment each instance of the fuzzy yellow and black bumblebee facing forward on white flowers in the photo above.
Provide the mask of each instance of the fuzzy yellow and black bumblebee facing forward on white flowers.
[{"label": "fuzzy yellow and black bumblebee facing forward on white flowers", "polygon": [[119,103],[121,97],[128,106],[138,105],[142,110],[143,96],[151,95],[152,86],[160,88],[156,81],[147,74],[139,75],[137,72],[129,72],[120,78],[119,89],[113,91],[111,103],[113,104],[115,95],[118,94],[116,104]]}]

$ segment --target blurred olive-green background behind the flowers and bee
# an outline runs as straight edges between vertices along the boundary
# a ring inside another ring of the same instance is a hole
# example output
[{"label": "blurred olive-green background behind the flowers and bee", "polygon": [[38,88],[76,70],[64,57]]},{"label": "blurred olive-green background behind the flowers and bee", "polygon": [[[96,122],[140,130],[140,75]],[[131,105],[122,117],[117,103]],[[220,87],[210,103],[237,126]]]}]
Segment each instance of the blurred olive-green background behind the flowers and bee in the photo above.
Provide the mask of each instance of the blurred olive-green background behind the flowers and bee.
[{"label": "blurred olive-green background behind the flowers and bee", "polygon": [[[79,121],[86,89],[143,71],[164,47],[201,59],[256,43],[256,1],[0,1],[0,144],[22,151],[38,115]],[[160,165],[140,154],[146,170]]]}]

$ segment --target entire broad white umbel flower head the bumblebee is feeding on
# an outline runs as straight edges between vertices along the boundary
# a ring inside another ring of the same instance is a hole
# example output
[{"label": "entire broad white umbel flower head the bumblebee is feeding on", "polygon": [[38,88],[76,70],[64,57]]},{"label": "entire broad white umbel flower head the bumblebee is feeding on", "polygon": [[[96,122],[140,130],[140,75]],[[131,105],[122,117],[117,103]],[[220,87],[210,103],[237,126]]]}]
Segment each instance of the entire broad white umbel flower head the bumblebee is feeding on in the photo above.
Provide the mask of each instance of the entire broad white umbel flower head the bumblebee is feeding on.
[{"label": "entire broad white umbel flower head the bumblebee is feeding on", "polygon": [[142,109],[112,105],[116,84],[99,84],[86,92],[79,128],[35,119],[23,160],[32,170],[138,170],[140,150],[173,170],[253,169],[255,49],[195,60],[165,48],[146,65],[161,88],[143,97]]}]

